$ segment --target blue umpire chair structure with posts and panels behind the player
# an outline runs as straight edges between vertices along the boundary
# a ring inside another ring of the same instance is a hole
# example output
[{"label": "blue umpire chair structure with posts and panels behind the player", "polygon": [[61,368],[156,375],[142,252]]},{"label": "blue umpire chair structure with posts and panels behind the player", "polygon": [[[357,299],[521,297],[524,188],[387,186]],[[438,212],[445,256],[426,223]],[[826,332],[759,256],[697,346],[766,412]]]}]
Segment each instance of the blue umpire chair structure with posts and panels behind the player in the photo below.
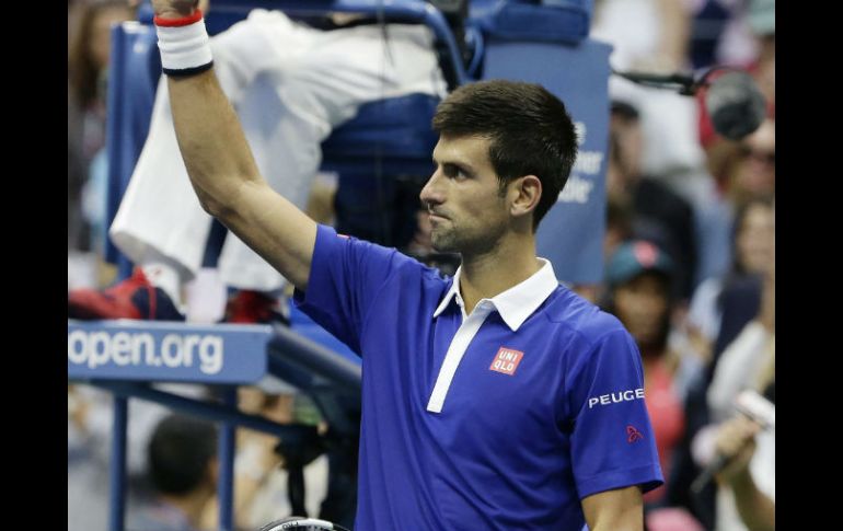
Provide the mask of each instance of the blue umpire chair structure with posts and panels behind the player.
[{"label": "blue umpire chair structure with posts and panels behind the player", "polygon": [[[558,203],[564,207],[554,207],[543,221],[539,252],[551,259],[563,280],[599,281],[602,276],[600,242],[604,230],[602,177],[609,120],[610,47],[587,38],[591,0],[472,0],[465,20],[464,42],[461,43],[454,39],[442,13],[422,0],[213,0],[206,20],[209,33],[223,31],[255,8],[281,9],[291,18],[302,20],[322,16],[328,11],[345,11],[363,13],[379,21],[426,24],[436,36],[440,64],[451,89],[472,79],[507,78],[541,82],[561,96],[580,130],[580,153],[585,155],[585,163],[575,166],[568,187],[559,196]],[[107,102],[108,224],[146,140],[161,72],[148,4],[141,5],[138,19],[115,27],[112,33]],[[471,51],[470,57],[462,54],[463,45]],[[368,218],[372,210],[383,209],[383,197],[391,195],[403,182],[417,185],[431,173],[430,153],[437,137],[430,130],[430,118],[437,104],[437,99],[422,94],[369,103],[323,142],[322,169],[339,174],[336,207],[338,218],[347,223],[340,230],[378,241],[399,238],[384,232],[394,220],[381,219],[380,227],[372,227]],[[131,269],[128,259],[111,242],[106,242],[105,251],[106,259],[118,264],[119,276],[128,276]],[[273,425],[239,413],[233,385],[272,374],[312,396],[339,439],[348,441],[359,430],[359,359],[300,314],[293,315],[291,330],[229,328],[227,325],[193,330],[197,337],[216,334],[230,340],[232,349],[240,349],[238,366],[227,367],[212,378],[185,371],[170,379],[222,385],[222,404],[193,403],[166,396],[149,385],[163,372],[154,369],[131,372],[114,363],[97,366],[96,346],[91,347],[93,350],[85,346],[85,342],[95,344],[97,338],[108,334],[116,337],[119,333],[151,333],[157,338],[168,333],[186,334],[183,325],[168,326],[164,324],[158,330],[150,323],[129,326],[125,323],[68,322],[69,377],[99,384],[116,396],[109,529],[123,530],[128,396],[159,401],[224,423],[220,438],[219,487],[220,529],[224,530],[232,529],[233,517],[233,426],[276,434],[287,451],[314,440],[314,434],[305,427]]]}]

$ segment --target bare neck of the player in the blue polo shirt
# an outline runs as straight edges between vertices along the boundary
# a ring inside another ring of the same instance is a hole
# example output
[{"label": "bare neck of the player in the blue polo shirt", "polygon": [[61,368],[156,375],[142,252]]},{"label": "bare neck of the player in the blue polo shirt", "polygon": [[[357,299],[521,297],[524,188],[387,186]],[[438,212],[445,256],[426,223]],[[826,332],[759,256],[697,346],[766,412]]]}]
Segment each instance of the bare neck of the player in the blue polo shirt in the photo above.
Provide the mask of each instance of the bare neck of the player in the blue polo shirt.
[{"label": "bare neck of the player in the blue polo shirt", "polygon": [[471,314],[481,299],[503,293],[530,278],[541,267],[532,236],[504,239],[488,253],[463,254],[459,289],[465,313]]}]

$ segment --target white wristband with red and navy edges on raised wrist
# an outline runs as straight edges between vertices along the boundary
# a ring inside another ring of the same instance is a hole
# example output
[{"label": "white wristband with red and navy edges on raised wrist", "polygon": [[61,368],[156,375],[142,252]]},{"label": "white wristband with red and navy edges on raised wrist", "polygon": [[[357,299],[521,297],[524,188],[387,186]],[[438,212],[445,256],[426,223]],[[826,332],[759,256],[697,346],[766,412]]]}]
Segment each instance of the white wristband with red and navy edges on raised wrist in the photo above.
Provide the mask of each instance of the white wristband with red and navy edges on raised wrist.
[{"label": "white wristband with red and navy edges on raised wrist", "polygon": [[213,66],[205,20],[181,26],[157,24],[161,67],[168,76],[192,76]]}]

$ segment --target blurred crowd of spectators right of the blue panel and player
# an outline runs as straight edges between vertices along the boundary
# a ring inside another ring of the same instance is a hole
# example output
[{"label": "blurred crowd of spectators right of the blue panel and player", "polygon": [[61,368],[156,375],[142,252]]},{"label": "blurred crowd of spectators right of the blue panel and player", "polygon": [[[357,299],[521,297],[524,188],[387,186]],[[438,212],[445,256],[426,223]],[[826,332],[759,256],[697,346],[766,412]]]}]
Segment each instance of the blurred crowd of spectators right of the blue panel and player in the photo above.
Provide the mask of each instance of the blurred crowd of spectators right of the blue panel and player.
[{"label": "blurred crowd of spectators right of the blue panel and player", "polygon": [[615,69],[737,67],[766,100],[758,130],[734,141],[704,93],[612,79],[605,281],[588,292],[644,360],[666,477],[645,497],[648,529],[774,529],[774,432],[734,402],[747,389],[775,402],[775,2],[597,1],[591,34],[614,45]]}]

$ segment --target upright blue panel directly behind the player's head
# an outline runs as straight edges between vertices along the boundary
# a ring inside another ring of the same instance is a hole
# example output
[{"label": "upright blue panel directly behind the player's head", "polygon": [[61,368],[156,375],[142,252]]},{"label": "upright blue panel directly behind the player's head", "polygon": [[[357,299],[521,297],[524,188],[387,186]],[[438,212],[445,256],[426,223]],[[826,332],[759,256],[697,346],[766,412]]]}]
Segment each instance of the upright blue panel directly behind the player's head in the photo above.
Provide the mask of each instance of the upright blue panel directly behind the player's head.
[{"label": "upright blue panel directly behind the player's head", "polygon": [[603,277],[611,50],[591,39],[577,46],[492,41],[486,48],[484,79],[540,83],[565,102],[576,123],[577,162],[536,234],[539,256],[571,284]]}]

